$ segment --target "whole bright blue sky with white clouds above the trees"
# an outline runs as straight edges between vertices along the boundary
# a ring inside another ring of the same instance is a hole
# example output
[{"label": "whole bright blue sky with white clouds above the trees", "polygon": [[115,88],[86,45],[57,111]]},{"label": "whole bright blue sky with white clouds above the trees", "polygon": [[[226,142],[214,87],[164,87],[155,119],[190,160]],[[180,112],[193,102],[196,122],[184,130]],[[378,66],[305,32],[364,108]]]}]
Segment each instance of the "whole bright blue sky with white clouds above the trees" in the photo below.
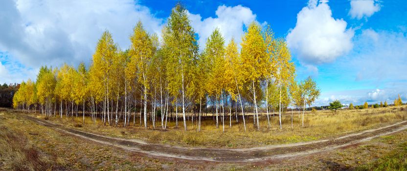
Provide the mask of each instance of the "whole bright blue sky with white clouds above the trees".
[{"label": "whole bright blue sky with white clouds above the trees", "polygon": [[[136,21],[160,34],[178,0],[2,0],[0,83],[35,80],[41,65],[90,63],[108,29],[125,49]],[[297,80],[321,88],[314,104],[407,101],[405,0],[181,0],[201,45],[218,27],[240,41],[251,21],[287,40]]]}]

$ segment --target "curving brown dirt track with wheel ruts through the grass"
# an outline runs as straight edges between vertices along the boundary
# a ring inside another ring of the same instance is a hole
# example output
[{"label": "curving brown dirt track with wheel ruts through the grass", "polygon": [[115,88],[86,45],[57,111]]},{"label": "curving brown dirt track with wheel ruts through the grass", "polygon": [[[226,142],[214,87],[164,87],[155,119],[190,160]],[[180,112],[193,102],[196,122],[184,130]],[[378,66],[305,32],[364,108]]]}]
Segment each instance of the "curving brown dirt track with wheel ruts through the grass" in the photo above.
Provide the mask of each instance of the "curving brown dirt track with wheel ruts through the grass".
[{"label": "curving brown dirt track with wheel ruts through the grass", "polygon": [[318,152],[345,148],[373,138],[398,132],[407,128],[407,121],[393,125],[369,129],[358,133],[347,134],[338,138],[287,145],[271,145],[247,149],[208,149],[186,148],[161,144],[151,144],[140,140],[122,139],[97,135],[90,132],[66,128],[50,121],[41,120],[28,115],[23,117],[46,127],[81,137],[86,140],[119,147],[125,150],[144,153],[153,157],[171,157],[175,159],[211,162],[259,162],[286,157],[300,157]]}]

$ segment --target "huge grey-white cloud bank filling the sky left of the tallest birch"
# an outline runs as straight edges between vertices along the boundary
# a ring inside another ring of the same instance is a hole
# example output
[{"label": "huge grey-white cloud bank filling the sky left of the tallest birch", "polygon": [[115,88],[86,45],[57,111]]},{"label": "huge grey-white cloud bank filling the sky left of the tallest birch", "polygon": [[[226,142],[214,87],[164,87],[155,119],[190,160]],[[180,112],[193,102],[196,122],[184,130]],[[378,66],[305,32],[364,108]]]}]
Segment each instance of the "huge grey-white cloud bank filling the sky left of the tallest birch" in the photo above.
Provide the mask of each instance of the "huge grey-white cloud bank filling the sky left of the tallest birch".
[{"label": "huge grey-white cloud bank filling the sky left of the tallest birch", "polygon": [[43,64],[90,62],[106,29],[127,48],[138,20],[158,34],[163,23],[133,0],[2,0],[0,16],[5,16],[0,18],[0,51],[34,69]]}]

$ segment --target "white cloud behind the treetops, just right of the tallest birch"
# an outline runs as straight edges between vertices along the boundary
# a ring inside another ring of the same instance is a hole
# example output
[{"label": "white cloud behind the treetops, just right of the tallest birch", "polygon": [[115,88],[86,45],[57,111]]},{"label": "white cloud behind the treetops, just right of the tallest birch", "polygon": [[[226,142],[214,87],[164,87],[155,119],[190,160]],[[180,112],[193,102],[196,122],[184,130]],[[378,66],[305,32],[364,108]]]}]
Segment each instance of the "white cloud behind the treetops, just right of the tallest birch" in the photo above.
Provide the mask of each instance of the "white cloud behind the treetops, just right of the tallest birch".
[{"label": "white cloud behind the treetops, just right of the tallest birch", "polygon": [[232,38],[236,43],[241,42],[243,27],[248,26],[250,22],[256,20],[256,15],[248,7],[241,5],[225,6],[221,5],[215,11],[216,18],[202,19],[200,14],[189,14],[191,25],[199,35],[199,45],[202,50],[205,46],[206,39],[210,36],[215,28],[219,28],[225,37],[225,43]]}]

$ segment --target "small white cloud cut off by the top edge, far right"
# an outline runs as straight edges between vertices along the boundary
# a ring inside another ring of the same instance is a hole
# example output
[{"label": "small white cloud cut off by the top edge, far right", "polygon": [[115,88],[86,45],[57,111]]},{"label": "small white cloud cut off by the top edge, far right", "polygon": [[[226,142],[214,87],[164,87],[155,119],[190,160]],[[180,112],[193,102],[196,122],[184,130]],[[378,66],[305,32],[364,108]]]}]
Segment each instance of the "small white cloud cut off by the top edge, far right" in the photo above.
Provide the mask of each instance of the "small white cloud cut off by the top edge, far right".
[{"label": "small white cloud cut off by the top edge, far right", "polygon": [[358,20],[370,17],[380,10],[380,5],[374,0],[351,0],[349,15]]}]

